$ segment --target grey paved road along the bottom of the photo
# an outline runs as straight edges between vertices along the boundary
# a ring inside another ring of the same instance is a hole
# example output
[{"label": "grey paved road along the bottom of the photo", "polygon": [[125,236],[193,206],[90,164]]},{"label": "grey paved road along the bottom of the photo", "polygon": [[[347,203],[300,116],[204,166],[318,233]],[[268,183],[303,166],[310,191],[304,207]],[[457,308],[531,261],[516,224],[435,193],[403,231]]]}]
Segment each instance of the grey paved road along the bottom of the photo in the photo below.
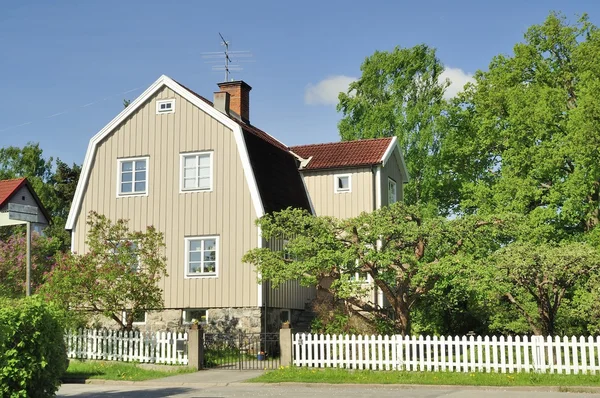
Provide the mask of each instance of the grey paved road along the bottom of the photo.
[{"label": "grey paved road along the bottom of the photo", "polygon": [[[216,384],[216,383],[215,383]],[[204,383],[154,384],[65,384],[59,397],[88,398],[208,398],[208,397],[403,397],[403,398],[600,398],[600,394],[559,393],[549,391],[487,390],[464,387],[405,387],[405,386],[359,386],[359,385],[262,385],[232,383],[225,385]]]}]

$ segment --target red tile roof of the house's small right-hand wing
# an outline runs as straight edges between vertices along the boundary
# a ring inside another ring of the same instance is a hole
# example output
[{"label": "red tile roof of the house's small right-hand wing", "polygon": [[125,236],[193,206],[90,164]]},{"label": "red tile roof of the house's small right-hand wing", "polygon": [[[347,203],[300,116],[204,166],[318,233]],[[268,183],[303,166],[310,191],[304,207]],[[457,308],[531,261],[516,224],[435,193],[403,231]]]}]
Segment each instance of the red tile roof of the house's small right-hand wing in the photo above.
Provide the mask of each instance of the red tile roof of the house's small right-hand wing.
[{"label": "red tile roof of the house's small right-hand wing", "polygon": [[372,166],[381,163],[391,137],[369,140],[331,142],[328,144],[299,145],[290,150],[302,157],[312,159],[304,170],[338,169]]}]

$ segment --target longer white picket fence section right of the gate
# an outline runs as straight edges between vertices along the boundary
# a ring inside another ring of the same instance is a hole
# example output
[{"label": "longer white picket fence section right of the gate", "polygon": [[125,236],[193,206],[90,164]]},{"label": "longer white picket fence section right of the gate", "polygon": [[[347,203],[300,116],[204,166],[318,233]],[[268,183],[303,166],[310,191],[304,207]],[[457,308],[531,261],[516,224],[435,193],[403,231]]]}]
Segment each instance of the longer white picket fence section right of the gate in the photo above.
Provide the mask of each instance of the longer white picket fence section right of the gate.
[{"label": "longer white picket fence section right of the gate", "polygon": [[427,372],[600,371],[600,336],[402,337],[295,334],[294,365]]}]

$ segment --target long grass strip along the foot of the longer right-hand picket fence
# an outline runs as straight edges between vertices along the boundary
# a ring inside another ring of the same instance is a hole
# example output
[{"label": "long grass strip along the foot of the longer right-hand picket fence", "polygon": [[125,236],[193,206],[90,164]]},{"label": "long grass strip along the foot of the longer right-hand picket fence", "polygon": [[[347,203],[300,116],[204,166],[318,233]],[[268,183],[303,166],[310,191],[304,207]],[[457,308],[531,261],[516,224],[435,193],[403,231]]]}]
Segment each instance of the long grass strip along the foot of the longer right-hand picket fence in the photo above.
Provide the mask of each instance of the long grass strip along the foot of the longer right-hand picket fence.
[{"label": "long grass strip along the foot of the longer right-hand picket fence", "polygon": [[600,386],[597,375],[539,373],[453,373],[280,368],[251,382],[332,384],[426,384],[468,386]]}]

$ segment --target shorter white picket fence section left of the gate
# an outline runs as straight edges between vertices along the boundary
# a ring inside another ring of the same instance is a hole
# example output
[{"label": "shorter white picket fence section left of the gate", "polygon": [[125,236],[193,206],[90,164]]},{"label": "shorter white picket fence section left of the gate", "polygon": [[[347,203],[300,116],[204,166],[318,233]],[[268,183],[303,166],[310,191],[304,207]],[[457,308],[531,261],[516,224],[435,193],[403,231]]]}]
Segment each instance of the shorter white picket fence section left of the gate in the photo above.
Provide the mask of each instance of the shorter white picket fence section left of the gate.
[{"label": "shorter white picket fence section left of the gate", "polygon": [[79,329],[65,334],[67,356],[187,365],[187,333]]}]

